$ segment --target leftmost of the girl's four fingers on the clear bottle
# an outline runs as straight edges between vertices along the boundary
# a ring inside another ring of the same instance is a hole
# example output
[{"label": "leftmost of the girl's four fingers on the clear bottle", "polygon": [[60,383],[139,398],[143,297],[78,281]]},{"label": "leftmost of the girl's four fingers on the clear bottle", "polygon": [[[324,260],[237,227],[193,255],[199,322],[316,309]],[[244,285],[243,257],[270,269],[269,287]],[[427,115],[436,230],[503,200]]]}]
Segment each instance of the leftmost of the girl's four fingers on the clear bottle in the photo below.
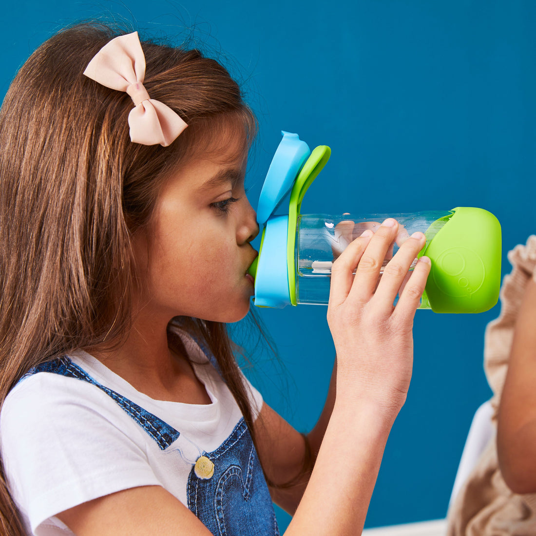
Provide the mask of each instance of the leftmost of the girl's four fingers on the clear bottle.
[{"label": "leftmost of the girl's four fingers on the clear bottle", "polygon": [[353,272],[373,234],[371,230],[366,230],[362,236],[351,242],[333,262],[331,267],[330,307],[338,306],[348,297],[354,280]]}]

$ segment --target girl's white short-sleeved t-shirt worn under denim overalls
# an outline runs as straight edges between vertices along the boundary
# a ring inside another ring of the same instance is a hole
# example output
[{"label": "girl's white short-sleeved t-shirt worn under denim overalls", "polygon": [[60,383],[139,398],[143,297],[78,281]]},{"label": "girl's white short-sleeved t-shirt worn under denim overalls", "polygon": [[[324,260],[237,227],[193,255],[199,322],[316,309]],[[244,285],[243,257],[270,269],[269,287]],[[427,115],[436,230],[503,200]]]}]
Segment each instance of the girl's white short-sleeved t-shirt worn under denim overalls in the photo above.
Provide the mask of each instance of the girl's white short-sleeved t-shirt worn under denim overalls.
[{"label": "girl's white short-sleeved t-shirt worn under denim overalls", "polygon": [[[154,400],[83,351],[62,358],[63,373],[28,374],[12,389],[0,449],[28,534],[72,534],[57,513],[136,486],[162,486],[188,505],[196,461],[245,427],[218,371],[194,341],[184,343],[211,404]],[[256,418],[263,400],[248,386]]]}]

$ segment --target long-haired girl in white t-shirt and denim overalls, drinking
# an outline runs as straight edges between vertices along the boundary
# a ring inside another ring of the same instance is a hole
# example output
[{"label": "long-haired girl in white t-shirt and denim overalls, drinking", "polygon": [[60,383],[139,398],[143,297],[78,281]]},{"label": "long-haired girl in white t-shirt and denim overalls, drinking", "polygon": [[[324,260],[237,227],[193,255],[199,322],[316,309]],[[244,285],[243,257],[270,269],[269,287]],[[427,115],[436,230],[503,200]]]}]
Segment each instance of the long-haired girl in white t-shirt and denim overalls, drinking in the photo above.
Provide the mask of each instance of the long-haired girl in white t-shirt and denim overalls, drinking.
[{"label": "long-haired girl in white t-shirt and denim overalls, drinking", "polygon": [[[333,266],[337,351],[307,436],[225,324],[257,255],[255,118],[221,65],[100,24],[53,36],[0,113],[4,534],[359,534],[412,370],[425,237],[389,219]],[[355,277],[353,271],[357,269]]]}]

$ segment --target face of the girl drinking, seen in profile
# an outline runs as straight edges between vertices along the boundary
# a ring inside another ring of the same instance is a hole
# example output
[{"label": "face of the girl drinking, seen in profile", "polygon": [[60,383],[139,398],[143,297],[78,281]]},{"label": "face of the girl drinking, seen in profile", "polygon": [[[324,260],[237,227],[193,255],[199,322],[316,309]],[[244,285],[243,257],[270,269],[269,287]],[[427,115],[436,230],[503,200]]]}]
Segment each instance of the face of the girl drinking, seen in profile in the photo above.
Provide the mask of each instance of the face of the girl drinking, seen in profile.
[{"label": "face of the girl drinking, seen in profile", "polygon": [[236,322],[247,314],[258,225],[244,191],[246,162],[232,150],[195,159],[163,185],[152,223],[135,241],[145,317]]}]

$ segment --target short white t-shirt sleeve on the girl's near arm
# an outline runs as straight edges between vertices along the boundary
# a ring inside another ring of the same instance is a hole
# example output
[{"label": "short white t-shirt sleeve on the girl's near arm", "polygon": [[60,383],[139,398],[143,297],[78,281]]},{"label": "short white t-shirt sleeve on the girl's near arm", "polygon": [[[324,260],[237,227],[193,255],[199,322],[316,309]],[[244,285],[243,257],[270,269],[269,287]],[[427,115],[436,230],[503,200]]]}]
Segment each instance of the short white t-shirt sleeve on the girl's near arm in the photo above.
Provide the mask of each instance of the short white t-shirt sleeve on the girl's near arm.
[{"label": "short white t-shirt sleeve on the girl's near arm", "polygon": [[160,484],[142,429],[118,419],[114,405],[93,385],[48,373],[23,379],[6,398],[2,460],[13,499],[33,532],[78,504]]}]

